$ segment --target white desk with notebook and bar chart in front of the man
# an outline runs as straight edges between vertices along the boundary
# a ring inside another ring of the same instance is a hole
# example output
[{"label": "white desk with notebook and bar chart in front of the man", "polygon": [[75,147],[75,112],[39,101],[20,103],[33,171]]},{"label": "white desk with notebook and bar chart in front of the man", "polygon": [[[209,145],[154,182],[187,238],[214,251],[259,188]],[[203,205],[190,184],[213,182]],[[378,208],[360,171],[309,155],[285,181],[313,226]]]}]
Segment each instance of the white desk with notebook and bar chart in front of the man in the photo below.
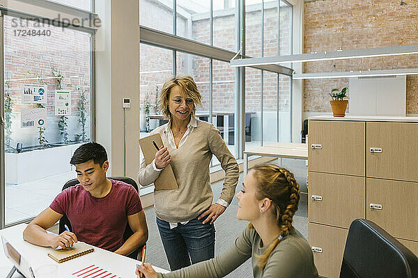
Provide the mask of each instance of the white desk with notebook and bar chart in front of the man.
[{"label": "white desk with notebook and bar chart in front of the man", "polygon": [[[130,259],[127,256],[115,254],[114,252],[103,250],[98,247],[95,247],[95,250],[92,253],[79,256],[78,258],[72,259],[70,261],[65,261],[63,263],[56,263],[54,260],[49,258],[49,256],[47,256],[52,248],[36,246],[23,240],[22,233],[25,228],[26,224],[19,224],[0,230],[0,235],[4,236],[10,242],[10,244],[15,247],[15,249],[20,252],[20,254],[22,254],[24,259],[29,262],[33,270],[36,270],[36,268],[40,267],[41,265],[55,264],[59,267],[58,273],[56,275],[57,278],[77,278],[77,276],[71,274],[94,264],[103,270],[107,270],[108,272],[117,275],[116,277],[137,278],[137,275],[135,275],[135,268],[139,261]],[[1,247],[0,277],[6,277],[12,267],[13,264],[4,255],[3,247]],[[169,272],[155,266],[153,266],[153,268],[157,272]],[[111,276],[113,275],[109,275],[107,278]],[[15,272],[13,278],[15,277],[21,278],[22,275]],[[100,277],[102,277],[102,275],[97,278]]]}]

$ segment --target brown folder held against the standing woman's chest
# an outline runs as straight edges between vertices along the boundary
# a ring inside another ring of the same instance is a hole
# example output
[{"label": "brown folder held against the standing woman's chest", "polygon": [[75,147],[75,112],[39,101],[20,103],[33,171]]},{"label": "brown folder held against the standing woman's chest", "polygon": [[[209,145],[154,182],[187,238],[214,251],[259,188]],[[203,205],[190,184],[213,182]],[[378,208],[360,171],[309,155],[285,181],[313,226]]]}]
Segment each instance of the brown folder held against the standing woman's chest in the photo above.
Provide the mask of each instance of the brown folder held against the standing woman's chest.
[{"label": "brown folder held against the standing woman's chest", "polygon": [[[159,148],[162,146],[160,133],[139,139],[139,145],[141,145],[142,154],[144,154],[146,165],[149,165],[153,162],[155,153],[157,152],[157,148],[154,146],[153,141]],[[174,176],[173,168],[170,164],[164,167],[164,170],[160,172],[160,176],[158,176],[154,181],[154,186],[155,190],[169,190],[178,188],[176,177]]]}]

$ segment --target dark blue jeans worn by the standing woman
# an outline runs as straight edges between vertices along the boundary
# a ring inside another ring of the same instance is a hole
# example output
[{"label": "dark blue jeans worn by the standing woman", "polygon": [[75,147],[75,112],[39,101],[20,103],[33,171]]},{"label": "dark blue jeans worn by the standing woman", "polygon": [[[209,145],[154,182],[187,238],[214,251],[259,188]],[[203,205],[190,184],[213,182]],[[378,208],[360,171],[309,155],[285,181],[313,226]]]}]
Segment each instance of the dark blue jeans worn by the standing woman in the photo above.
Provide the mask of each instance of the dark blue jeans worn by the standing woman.
[{"label": "dark blue jeans worn by the standing woman", "polygon": [[169,222],[157,218],[171,271],[190,265],[190,259],[192,263],[199,263],[215,257],[215,226],[202,224],[203,220],[194,218],[185,225],[178,223],[176,228],[170,229]]}]

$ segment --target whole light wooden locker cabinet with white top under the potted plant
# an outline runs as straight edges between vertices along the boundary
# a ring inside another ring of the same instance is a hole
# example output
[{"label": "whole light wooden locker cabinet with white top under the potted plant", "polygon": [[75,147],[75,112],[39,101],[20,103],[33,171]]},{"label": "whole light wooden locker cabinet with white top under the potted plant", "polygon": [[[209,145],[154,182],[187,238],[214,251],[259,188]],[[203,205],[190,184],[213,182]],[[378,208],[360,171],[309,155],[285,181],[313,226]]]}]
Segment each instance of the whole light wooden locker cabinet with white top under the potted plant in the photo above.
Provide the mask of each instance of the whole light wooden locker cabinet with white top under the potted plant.
[{"label": "whole light wooden locker cabinet with white top under the potted plant", "polygon": [[356,218],[418,254],[417,138],[418,117],[309,118],[309,244],[319,275],[339,277]]}]

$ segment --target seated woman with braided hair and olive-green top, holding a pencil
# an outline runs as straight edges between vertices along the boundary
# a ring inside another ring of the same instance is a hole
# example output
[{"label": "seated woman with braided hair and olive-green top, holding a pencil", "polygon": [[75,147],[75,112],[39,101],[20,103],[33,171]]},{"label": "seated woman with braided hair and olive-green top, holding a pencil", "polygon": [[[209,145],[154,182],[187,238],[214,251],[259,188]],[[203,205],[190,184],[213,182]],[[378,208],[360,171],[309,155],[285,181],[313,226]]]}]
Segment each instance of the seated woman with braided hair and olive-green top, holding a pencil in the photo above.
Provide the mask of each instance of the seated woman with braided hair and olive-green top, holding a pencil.
[{"label": "seated woman with braided hair and olive-green top, holding a pencil", "polygon": [[146,263],[137,275],[141,271],[146,278],[224,277],[251,258],[255,278],[318,277],[311,247],[292,226],[300,190],[291,172],[277,165],[257,165],[236,197],[237,218],[250,224],[229,250],[164,275]]}]

